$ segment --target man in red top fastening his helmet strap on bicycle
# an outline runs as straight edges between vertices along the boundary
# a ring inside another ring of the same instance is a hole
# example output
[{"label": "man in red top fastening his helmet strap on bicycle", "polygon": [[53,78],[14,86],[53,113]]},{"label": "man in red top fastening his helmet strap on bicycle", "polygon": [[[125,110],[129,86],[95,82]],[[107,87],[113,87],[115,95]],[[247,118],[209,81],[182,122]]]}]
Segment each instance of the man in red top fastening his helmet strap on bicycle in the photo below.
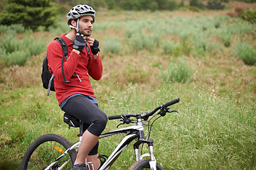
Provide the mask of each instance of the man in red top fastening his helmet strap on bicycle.
[{"label": "man in red top fastening his helmet strap on bicycle", "polygon": [[59,42],[54,40],[47,49],[48,66],[55,74],[55,95],[60,108],[85,123],[86,130],[82,135],[78,157],[71,170],[87,169],[85,159],[98,168],[98,140],[107,124],[107,115],[97,107],[89,80],[89,76],[95,80],[102,77],[99,42],[90,38],[95,10],[87,5],[74,6],[67,14],[67,22],[71,30],[61,38],[68,46],[68,60],[63,60],[63,50]]}]

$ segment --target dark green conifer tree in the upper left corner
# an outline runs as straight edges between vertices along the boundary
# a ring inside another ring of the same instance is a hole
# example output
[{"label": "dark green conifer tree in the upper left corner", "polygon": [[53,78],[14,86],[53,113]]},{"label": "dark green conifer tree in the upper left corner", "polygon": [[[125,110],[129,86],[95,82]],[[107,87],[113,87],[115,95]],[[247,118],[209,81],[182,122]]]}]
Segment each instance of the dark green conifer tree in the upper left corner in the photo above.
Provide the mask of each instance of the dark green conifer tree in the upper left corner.
[{"label": "dark green conifer tree in the upper left corner", "polygon": [[50,0],[8,0],[0,13],[0,24],[20,23],[25,28],[36,30],[39,26],[48,29],[53,26],[58,8],[53,7]]}]

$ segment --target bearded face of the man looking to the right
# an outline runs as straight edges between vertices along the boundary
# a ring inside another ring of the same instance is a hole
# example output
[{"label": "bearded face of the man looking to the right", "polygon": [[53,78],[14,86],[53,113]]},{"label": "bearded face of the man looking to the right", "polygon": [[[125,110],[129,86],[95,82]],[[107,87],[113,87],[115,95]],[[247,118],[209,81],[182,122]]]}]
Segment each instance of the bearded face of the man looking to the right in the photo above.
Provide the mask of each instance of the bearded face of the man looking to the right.
[{"label": "bearded face of the man looking to the right", "polygon": [[92,16],[82,16],[79,19],[79,24],[78,24],[80,33],[89,37],[92,33],[92,23],[93,23]]}]

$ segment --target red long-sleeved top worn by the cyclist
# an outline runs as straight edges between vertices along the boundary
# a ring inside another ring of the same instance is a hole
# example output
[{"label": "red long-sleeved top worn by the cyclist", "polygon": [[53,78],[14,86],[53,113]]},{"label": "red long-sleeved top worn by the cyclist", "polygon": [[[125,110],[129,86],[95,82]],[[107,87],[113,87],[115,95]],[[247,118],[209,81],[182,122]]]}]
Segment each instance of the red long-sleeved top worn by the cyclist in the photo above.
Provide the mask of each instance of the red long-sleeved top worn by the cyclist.
[{"label": "red long-sleeved top worn by the cyclist", "polygon": [[[97,59],[93,59],[90,50],[90,56],[86,47],[78,55],[73,52],[73,42],[69,40],[66,34],[61,35],[68,46],[68,60],[64,59],[63,68],[65,72],[65,79],[70,83],[64,83],[63,72],[61,69],[61,60],[63,58],[63,50],[60,43],[56,40],[50,42],[47,47],[48,67],[51,73],[55,74],[54,87],[58,104],[62,103],[65,98],[73,94],[84,94],[95,97],[90,84],[89,75],[92,79],[100,80],[102,77],[102,62],[100,55]],[[87,45],[90,47],[89,43]],[[74,75],[73,74],[77,74]],[[80,79],[79,79],[79,78]],[[81,81],[80,81],[81,80]]]}]

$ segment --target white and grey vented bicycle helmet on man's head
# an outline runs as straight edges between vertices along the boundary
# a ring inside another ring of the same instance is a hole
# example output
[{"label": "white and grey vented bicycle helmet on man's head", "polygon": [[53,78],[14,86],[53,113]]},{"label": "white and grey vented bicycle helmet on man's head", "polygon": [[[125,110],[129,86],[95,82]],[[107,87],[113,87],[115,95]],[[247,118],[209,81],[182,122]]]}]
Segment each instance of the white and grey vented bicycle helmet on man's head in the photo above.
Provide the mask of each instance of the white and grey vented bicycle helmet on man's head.
[{"label": "white and grey vented bicycle helmet on man's head", "polygon": [[81,16],[92,16],[93,21],[95,21],[95,13],[96,11],[88,5],[77,5],[74,6],[70,11],[67,13],[67,23],[70,26],[71,19],[77,19]]}]

